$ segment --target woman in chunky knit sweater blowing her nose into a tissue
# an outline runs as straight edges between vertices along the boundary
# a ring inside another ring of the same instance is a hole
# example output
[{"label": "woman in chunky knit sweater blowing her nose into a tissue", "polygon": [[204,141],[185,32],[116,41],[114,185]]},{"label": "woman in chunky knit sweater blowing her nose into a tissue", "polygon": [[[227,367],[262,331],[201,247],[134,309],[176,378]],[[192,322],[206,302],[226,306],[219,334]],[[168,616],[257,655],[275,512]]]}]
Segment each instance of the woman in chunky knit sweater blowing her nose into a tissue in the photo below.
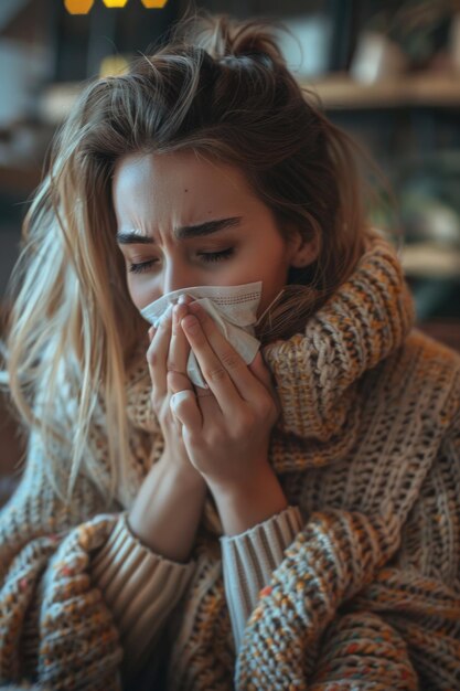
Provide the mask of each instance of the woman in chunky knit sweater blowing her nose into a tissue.
[{"label": "woman in chunky knit sweater blowing her nose into a tissue", "polygon": [[[459,358],[269,28],[205,18],[92,84],[23,233],[0,679],[456,688]],[[255,299],[254,360],[203,287]]]}]

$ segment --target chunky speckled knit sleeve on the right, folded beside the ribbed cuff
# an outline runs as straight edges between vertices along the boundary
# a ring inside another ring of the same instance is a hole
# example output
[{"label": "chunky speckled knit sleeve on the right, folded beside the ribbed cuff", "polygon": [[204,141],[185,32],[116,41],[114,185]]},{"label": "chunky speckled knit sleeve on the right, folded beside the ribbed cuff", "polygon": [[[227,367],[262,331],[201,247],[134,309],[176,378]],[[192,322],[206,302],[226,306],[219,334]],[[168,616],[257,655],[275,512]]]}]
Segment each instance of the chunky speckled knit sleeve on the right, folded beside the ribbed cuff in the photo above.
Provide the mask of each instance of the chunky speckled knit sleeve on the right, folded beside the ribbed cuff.
[{"label": "chunky speckled knit sleeve on the right, folded beside the ribbed cuff", "polygon": [[246,625],[238,690],[459,688],[459,487],[457,427],[403,527],[393,512],[313,513]]}]

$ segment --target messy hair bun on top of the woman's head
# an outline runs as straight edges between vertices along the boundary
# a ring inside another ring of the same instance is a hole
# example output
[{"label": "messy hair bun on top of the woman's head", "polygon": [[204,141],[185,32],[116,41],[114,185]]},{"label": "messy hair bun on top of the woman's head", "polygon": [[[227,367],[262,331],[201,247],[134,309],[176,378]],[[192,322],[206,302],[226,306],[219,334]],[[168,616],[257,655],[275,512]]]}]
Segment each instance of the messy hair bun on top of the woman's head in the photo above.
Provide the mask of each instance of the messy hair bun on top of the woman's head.
[{"label": "messy hair bun on top of the woman's head", "polygon": [[235,20],[201,10],[179,23],[175,36],[205,50],[217,61],[263,56],[274,65],[286,66],[276,38],[276,31],[282,29],[275,20]]}]

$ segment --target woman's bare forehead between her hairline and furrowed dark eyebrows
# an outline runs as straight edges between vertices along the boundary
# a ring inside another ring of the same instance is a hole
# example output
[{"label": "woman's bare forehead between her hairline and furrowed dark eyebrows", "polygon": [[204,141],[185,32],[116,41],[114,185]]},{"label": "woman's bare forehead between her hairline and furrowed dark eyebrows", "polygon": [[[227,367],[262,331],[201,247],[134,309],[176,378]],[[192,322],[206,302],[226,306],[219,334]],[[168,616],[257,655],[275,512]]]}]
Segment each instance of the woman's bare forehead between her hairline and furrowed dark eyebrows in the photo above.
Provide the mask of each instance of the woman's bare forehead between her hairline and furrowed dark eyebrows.
[{"label": "woman's bare forehead between her hairline and furrowed dark eyebrows", "polygon": [[149,214],[160,224],[206,220],[256,201],[242,171],[193,151],[124,157],[114,171],[113,193],[119,222]]}]

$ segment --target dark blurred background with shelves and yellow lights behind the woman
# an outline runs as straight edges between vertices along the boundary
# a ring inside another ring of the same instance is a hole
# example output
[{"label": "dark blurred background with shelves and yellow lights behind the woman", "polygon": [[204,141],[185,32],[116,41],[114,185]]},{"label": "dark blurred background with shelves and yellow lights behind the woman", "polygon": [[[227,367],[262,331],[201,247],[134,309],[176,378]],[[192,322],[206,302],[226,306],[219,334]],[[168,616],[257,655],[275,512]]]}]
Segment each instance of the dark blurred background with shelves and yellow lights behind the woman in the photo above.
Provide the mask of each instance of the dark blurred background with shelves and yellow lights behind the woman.
[{"label": "dark blurred background with shelves and yellow lights behind the woman", "polygon": [[[280,34],[290,68],[393,185],[397,214],[372,213],[404,238],[419,327],[460,350],[460,0],[197,7],[271,17],[290,30]],[[188,0],[0,1],[0,307],[49,145],[82,82],[122,72],[165,41],[188,8]]]}]

